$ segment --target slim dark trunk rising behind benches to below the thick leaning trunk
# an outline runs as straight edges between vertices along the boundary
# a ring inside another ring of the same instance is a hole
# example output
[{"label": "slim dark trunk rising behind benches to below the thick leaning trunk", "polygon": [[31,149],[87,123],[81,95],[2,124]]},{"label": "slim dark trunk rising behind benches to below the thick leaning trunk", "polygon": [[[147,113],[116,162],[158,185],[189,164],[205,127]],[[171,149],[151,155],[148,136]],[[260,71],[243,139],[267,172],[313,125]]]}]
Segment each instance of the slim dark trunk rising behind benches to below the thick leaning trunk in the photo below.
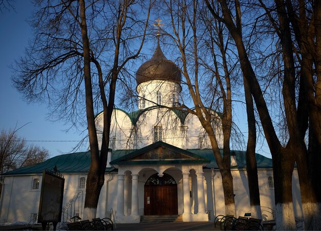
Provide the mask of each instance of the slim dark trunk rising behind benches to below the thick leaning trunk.
[{"label": "slim dark trunk rising behind benches to below the thick leaning trunk", "polygon": [[257,166],[255,158],[256,147],[256,127],[254,106],[250,88],[244,78],[244,91],[246,101],[246,111],[248,118],[248,143],[246,148],[246,171],[248,174],[248,185],[250,194],[251,215],[254,218],[262,219],[262,212],[259,199],[259,187],[257,177]]}]

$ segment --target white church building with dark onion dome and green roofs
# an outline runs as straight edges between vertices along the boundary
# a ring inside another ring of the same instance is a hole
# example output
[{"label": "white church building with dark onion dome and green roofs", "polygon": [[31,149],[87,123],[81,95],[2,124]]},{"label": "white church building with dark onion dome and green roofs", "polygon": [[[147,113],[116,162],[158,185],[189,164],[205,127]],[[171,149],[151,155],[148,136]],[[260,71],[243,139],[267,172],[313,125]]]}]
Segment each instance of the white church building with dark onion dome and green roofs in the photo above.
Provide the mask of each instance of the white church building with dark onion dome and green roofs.
[{"label": "white church building with dark onion dome and green roofs", "polygon": [[[159,44],[136,72],[138,110],[113,111],[110,151],[97,207],[97,217],[112,216],[117,223],[138,223],[150,215],[173,215],[179,221],[213,221],[225,214],[222,178],[206,132],[196,115],[173,106],[182,102],[181,73],[167,60]],[[213,112],[214,113],[214,112]],[[220,114],[213,123],[218,143]],[[103,114],[96,116],[101,140]],[[256,154],[260,203],[264,220],[274,219],[272,160]],[[63,220],[82,217],[90,150],[55,156],[43,163],[3,175],[0,223],[26,221],[37,216],[42,172],[57,167],[65,178]],[[250,213],[246,152],[231,151],[236,216]],[[296,169],[293,204],[303,217]],[[70,220],[67,220],[70,221]]]}]

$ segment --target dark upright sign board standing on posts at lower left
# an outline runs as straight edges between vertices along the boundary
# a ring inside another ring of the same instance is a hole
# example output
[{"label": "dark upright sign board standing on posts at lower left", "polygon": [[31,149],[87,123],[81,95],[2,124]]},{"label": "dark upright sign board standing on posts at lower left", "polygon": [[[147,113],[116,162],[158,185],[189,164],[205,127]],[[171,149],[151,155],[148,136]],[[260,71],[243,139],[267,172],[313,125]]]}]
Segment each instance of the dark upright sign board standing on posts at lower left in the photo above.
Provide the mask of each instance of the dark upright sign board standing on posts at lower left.
[{"label": "dark upright sign board standing on posts at lower left", "polygon": [[64,198],[65,179],[43,171],[38,223],[60,222]]}]

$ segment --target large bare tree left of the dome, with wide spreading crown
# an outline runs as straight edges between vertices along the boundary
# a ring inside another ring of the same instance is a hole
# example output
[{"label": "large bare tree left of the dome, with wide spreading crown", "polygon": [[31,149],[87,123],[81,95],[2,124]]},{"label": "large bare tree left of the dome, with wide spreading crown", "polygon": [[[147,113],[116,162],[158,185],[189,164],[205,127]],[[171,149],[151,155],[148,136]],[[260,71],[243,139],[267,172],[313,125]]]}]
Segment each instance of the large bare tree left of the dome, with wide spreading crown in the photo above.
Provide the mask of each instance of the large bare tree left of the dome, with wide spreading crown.
[{"label": "large bare tree left of the dome, with wide spreading crown", "polygon": [[[145,7],[131,0],[38,1],[31,22],[34,40],[15,68],[13,81],[27,100],[48,100],[58,119],[87,126],[91,165],[85,219],[96,216],[104,184],[118,74],[142,49],[150,7],[151,2]],[[104,111],[101,151],[95,108]]]}]

